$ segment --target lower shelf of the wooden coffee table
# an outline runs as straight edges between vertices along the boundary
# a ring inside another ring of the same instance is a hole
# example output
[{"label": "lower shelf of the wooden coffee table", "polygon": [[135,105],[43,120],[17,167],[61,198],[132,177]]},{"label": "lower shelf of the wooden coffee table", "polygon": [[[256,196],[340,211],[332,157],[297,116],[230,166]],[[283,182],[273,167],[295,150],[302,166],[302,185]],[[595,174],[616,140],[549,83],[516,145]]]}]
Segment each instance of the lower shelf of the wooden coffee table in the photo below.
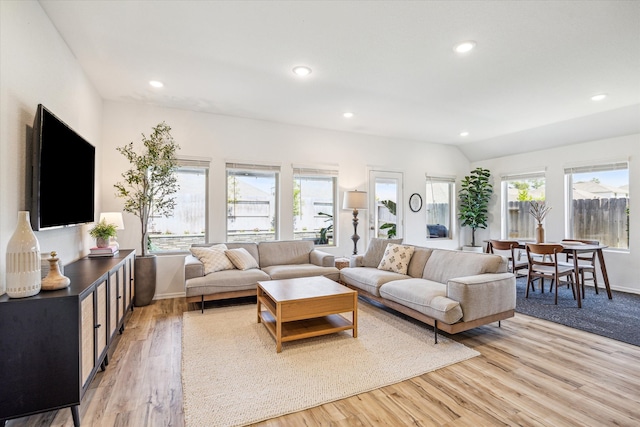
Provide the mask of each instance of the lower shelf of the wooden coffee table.
[{"label": "lower shelf of the wooden coffee table", "polygon": [[[275,317],[267,311],[260,312],[262,323],[267,328],[274,339],[277,336],[277,322]],[[320,335],[334,334],[336,332],[348,331],[353,329],[353,322],[345,319],[339,314],[330,314],[328,316],[314,317],[312,319],[293,320],[290,322],[282,322],[281,342],[301,340],[304,338],[317,337]]]}]

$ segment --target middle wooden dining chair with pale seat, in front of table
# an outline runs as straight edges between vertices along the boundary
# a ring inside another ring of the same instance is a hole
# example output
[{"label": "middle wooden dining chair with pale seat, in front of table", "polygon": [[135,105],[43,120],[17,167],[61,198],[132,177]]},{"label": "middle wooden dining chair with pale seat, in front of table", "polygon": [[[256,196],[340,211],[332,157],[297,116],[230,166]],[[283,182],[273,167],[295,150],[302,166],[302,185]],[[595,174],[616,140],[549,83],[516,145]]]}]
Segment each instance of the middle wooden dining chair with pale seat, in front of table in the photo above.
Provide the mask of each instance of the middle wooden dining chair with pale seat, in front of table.
[{"label": "middle wooden dining chair with pale seat, in front of table", "polygon": [[[549,292],[551,292],[555,283],[555,304],[558,304],[558,287],[562,283],[562,278],[564,277],[566,278],[565,282],[571,286],[573,299],[576,299],[575,281],[573,280],[573,265],[558,262],[558,254],[561,254],[563,250],[564,247],[557,243],[527,243],[526,251],[529,263],[529,272],[527,274],[527,291],[525,298],[529,298],[529,287],[533,289],[533,281],[540,279],[541,283],[544,283],[542,282],[544,279],[550,279],[551,286],[549,287]],[[544,285],[542,286],[544,287]]]}]

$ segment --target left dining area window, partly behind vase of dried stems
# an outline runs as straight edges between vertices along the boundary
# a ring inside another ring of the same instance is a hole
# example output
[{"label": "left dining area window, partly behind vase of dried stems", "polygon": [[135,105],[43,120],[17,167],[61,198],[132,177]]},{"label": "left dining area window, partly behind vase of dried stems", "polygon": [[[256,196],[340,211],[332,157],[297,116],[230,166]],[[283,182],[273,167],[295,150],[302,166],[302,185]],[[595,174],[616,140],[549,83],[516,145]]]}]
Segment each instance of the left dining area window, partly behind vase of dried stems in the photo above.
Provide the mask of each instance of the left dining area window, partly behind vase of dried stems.
[{"label": "left dining area window, partly behind vase of dried stems", "polygon": [[529,214],[531,201],[545,201],[544,172],[502,176],[502,236],[535,239],[536,220]]}]

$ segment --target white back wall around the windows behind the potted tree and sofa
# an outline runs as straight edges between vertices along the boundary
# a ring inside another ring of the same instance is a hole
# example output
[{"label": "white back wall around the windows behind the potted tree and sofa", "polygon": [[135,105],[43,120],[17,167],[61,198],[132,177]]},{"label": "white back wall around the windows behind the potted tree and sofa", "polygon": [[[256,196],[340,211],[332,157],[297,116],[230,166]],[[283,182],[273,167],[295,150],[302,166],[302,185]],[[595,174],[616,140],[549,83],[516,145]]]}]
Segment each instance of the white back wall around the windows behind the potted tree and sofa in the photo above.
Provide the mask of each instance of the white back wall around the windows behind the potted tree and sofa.
[{"label": "white back wall around the windows behind the potted tree and sofa", "polygon": [[[266,121],[250,120],[184,110],[167,109],[147,105],[105,102],[103,122],[104,151],[101,157],[103,179],[101,192],[105,195],[105,210],[117,211],[122,200],[111,197],[113,184],[120,181],[121,173],[128,168],[124,157],[116,147],[130,141],[139,143],[140,133],[148,134],[153,126],[165,121],[172,127],[172,135],[180,144],[179,155],[199,156],[211,159],[209,192],[210,241],[225,241],[226,227],[226,175],[228,160],[246,162],[271,162],[282,167],[281,173],[281,227],[280,238],[292,239],[293,178],[292,164],[338,165],[340,189],[339,204],[344,190],[367,190],[369,167],[404,173],[403,195],[405,206],[405,241],[423,246],[458,248],[458,232],[453,230],[453,240],[426,238],[426,214],[424,208],[413,213],[408,209],[409,196],[419,193],[425,198],[425,173],[432,175],[456,175],[469,172],[469,161],[451,146],[425,144],[397,139],[332,132],[314,128],[291,126]],[[367,211],[360,211],[358,251],[363,253],[369,240]],[[336,222],[337,247],[326,248],[336,256],[349,256],[353,251],[351,234],[352,215],[340,210]],[[125,230],[118,233],[122,248],[140,249],[140,225],[138,218],[125,214]],[[163,257],[164,258],[164,257]],[[173,257],[170,257],[173,258]],[[164,261],[167,262],[167,261]],[[174,264],[174,261],[169,261]],[[163,260],[160,260],[160,264]],[[162,268],[162,267],[161,267]],[[159,274],[157,296],[174,296],[184,292],[180,275]],[[163,283],[171,280],[172,283]]]}]

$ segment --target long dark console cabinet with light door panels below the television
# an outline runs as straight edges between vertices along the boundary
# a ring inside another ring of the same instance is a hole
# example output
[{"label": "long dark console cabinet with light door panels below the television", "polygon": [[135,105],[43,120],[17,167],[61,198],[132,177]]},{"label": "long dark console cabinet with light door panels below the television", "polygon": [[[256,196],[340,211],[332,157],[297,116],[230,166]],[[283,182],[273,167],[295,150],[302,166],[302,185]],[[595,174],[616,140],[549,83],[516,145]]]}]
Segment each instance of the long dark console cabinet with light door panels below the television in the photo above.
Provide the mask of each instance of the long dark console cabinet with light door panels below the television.
[{"label": "long dark console cabinet with light door panels below the television", "polygon": [[135,252],[82,258],[64,268],[71,284],[28,298],[0,296],[0,426],[79,405],[116,332],[133,310]]}]

